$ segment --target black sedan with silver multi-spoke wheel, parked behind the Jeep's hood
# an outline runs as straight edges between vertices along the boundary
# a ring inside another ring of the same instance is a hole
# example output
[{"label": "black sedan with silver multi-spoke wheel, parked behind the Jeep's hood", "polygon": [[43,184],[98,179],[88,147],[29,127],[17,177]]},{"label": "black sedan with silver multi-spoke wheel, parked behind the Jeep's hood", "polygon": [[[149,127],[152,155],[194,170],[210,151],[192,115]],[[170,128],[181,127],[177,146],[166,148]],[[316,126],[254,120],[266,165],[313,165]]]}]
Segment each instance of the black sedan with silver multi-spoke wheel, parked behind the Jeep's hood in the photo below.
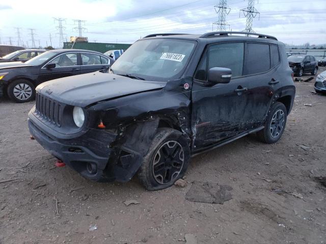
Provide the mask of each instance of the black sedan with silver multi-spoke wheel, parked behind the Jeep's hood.
[{"label": "black sedan with silver multi-spoke wheel, parked behind the Jeep's hood", "polygon": [[44,52],[25,63],[0,64],[0,98],[8,94],[15,102],[29,102],[35,98],[35,87],[44,81],[106,69],[113,62],[100,52],[61,49]]}]

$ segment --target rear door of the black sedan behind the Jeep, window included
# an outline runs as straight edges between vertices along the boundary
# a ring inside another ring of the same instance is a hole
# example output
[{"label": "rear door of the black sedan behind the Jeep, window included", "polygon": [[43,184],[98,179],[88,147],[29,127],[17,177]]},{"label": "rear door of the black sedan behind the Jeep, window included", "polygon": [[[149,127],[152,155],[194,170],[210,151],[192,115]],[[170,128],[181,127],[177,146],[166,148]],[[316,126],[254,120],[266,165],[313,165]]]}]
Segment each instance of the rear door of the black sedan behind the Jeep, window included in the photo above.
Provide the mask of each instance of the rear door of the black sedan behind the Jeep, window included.
[{"label": "rear door of the black sedan behind the Jeep, window included", "polygon": [[80,53],[82,65],[80,65],[80,74],[95,72],[106,69],[110,66],[110,60],[96,53]]}]

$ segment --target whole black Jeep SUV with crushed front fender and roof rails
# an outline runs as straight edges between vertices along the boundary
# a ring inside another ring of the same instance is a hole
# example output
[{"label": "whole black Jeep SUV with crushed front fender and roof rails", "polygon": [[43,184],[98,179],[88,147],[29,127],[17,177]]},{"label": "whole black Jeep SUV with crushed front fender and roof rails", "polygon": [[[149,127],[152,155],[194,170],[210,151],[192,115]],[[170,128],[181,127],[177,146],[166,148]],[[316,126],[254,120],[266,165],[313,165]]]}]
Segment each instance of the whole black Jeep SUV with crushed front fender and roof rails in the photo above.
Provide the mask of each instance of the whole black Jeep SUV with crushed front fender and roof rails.
[{"label": "whole black Jeep SUV with crushed front fender and roof rails", "polygon": [[30,132],[87,178],[125,182],[139,172],[148,190],[172,186],[192,156],[248,134],[275,143],[293,73],[283,43],[247,35],[147,36],[107,71],[40,84]]}]

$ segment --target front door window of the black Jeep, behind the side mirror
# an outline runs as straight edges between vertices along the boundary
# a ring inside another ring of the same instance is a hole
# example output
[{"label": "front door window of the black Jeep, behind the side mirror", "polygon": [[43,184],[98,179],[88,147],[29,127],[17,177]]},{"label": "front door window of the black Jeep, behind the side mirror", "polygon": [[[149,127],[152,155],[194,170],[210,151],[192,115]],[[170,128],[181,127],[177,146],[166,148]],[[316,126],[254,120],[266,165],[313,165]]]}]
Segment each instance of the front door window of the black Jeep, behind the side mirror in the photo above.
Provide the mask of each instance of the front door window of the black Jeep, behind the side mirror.
[{"label": "front door window of the black Jeep, behind the side mirror", "polygon": [[210,68],[221,67],[232,71],[232,78],[242,75],[244,43],[222,43],[212,45],[203,55],[195,79],[206,80]]}]

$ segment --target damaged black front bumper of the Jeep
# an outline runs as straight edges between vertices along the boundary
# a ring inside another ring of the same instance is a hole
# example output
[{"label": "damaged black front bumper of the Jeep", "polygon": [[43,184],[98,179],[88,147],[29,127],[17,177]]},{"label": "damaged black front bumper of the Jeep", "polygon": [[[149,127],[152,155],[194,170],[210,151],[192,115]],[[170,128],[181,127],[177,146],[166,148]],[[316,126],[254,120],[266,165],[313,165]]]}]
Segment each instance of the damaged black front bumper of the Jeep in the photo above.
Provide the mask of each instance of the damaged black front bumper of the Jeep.
[{"label": "damaged black front bumper of the Jeep", "polygon": [[[30,133],[50,154],[86,178],[95,181],[115,180],[114,175],[110,175],[106,170],[112,154],[109,146],[115,140],[115,135],[105,131],[89,130],[77,138],[59,139],[47,133],[44,128],[41,129],[39,123],[38,118],[30,112],[28,118]],[[87,164],[96,165],[96,173],[90,173]]]}]

